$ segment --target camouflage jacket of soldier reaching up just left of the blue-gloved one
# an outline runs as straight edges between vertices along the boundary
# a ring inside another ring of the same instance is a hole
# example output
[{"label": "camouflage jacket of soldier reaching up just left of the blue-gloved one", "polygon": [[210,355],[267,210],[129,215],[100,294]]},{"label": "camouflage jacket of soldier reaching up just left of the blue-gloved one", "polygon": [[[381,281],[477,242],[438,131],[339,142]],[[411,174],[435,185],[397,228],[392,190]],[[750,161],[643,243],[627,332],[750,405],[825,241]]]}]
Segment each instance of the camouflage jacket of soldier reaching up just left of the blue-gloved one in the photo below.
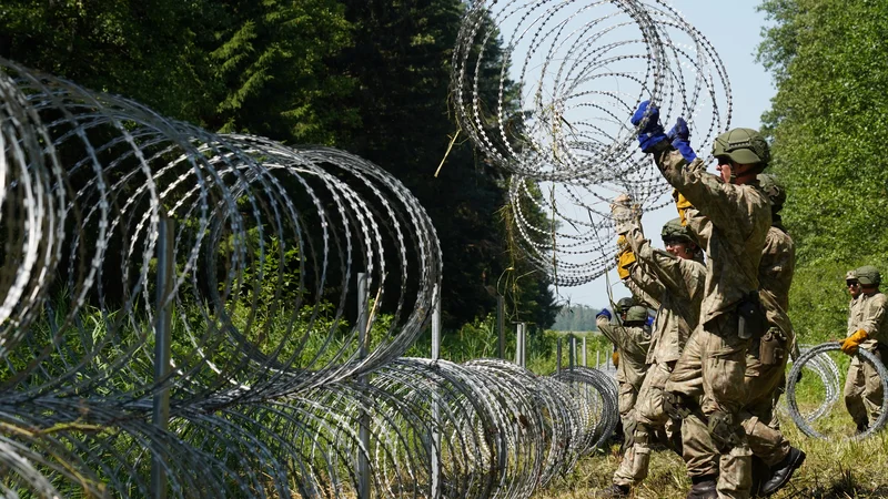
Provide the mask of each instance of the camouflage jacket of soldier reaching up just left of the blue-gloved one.
[{"label": "camouflage jacket of soldier reaching up just left of the blue-gloved one", "polygon": [[619,224],[617,232],[626,236],[636,257],[629,279],[636,281],[638,287],[648,294],[658,293],[659,296],[660,306],[654,320],[647,364],[678,360],[699,322],[706,267],[699,262],[654,248],[645,238],[639,221],[619,212],[620,206],[616,206],[614,218],[625,222]]}]

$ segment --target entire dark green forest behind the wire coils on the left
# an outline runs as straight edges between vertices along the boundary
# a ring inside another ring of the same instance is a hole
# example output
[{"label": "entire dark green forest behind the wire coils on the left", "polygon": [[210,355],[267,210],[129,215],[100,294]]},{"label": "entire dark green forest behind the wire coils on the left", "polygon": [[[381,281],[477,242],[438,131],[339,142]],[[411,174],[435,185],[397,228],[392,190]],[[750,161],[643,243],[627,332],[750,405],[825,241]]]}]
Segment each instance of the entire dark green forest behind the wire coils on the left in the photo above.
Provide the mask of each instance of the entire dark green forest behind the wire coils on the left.
[{"label": "entire dark green forest behind the wire coils on the left", "polygon": [[[432,217],[447,334],[486,317],[497,295],[509,322],[548,327],[555,297],[507,241],[502,172],[465,141],[447,153],[456,132],[451,58],[464,9],[460,0],[9,0],[0,9],[0,55],[211,130],[323,143],[373,161]],[[498,92],[502,57],[498,47],[485,49],[488,100]],[[516,91],[506,84],[506,100]],[[532,203],[524,213],[545,224]],[[263,293],[286,283],[291,293],[295,279],[313,278],[295,273],[297,256],[264,264],[273,278]]]}]

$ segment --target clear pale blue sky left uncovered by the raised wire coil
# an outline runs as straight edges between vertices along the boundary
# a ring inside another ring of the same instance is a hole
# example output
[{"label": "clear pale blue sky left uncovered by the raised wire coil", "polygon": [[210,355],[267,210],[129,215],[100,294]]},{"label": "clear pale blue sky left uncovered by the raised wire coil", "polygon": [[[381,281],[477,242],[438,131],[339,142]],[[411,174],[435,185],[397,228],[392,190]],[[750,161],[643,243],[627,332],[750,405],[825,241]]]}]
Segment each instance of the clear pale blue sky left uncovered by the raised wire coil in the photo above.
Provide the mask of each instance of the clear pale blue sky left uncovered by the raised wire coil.
[{"label": "clear pale blue sky left uncovered by the raised wire coil", "polygon": [[[771,75],[761,64],[755,62],[755,52],[761,39],[761,28],[766,26],[764,13],[756,11],[756,0],[739,2],[716,2],[713,0],[673,0],[672,6],[689,23],[696,27],[712,42],[725,64],[730,81],[734,111],[730,126],[760,128],[760,116],[770,106],[770,98],[776,93]],[[668,128],[668,126],[667,126]],[[714,166],[709,166],[714,171]],[[660,227],[677,216],[675,207],[668,206],[643,218],[645,234],[656,247],[663,247],[659,238]],[[629,296],[619,283],[615,269],[608,273],[614,299]],[[601,276],[592,283],[575,287],[558,287],[557,299],[572,305],[583,304],[595,308],[609,307],[607,279]]]}]

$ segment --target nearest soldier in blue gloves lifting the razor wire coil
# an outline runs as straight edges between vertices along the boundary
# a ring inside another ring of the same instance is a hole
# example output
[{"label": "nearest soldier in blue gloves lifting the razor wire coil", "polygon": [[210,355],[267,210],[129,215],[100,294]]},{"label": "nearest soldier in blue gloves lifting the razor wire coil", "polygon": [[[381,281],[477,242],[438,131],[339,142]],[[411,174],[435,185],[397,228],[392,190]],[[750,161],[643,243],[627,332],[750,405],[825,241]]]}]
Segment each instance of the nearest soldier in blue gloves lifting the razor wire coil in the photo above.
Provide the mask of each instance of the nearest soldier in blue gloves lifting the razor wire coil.
[{"label": "nearest soldier in blue gloves lifting the razor wire coil", "polygon": [[[639,128],[642,150],[654,154],[666,181],[698,212],[694,233],[709,256],[700,324],[666,384],[665,404],[667,410],[686,414],[694,408],[702,383],[699,406],[720,452],[720,472],[736,478],[718,481],[718,497],[748,498],[751,450],[739,413],[747,399],[746,353],[751,339],[767,330],[758,299],[758,267],[771,216],[757,175],[768,164],[768,144],[750,129],[734,129],[716,138],[713,155],[718,160],[719,181],[690,149],[684,120],[670,132],[672,144],[658,111],[648,102],[642,103],[632,121]],[[688,431],[686,424],[683,434]],[[698,477],[688,497],[714,497],[714,481],[715,477]]]}]

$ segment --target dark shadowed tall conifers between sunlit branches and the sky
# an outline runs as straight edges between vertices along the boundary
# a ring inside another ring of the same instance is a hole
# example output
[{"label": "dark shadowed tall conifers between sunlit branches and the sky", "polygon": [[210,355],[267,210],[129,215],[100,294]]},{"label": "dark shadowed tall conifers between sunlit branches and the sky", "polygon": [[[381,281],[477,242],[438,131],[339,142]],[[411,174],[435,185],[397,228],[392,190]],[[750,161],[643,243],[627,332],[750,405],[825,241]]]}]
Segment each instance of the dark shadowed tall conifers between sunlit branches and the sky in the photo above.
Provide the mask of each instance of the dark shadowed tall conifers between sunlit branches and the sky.
[{"label": "dark shadowed tall conifers between sunlit branches and the sky", "polygon": [[[361,88],[331,105],[356,113],[360,124],[343,128],[339,145],[393,173],[432,217],[444,256],[445,328],[457,330],[486,316],[497,295],[506,297],[508,320],[548,327],[556,307],[545,276],[515,263],[521,255],[508,246],[500,220],[507,202],[505,180],[465,141],[457,140],[448,152],[456,133],[447,104],[451,58],[464,2],[343,3],[355,27],[354,43],[334,64]],[[490,48],[485,58],[490,64],[482,84],[491,101],[498,91],[494,68],[502,52]],[[508,85],[506,96],[515,90]]]}]

